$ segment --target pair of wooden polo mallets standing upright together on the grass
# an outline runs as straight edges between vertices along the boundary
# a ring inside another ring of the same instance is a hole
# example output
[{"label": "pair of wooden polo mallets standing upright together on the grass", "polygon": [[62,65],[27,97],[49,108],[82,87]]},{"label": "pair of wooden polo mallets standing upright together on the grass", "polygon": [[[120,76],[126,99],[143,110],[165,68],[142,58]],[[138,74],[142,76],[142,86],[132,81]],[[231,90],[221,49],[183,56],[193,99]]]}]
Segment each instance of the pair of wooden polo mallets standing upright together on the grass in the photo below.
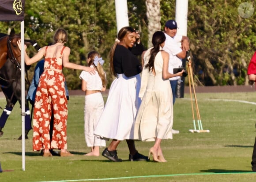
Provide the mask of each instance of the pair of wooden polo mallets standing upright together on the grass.
[{"label": "pair of wooden polo mallets standing upright together on the grass", "polygon": [[[188,51],[188,53],[190,53]],[[194,124],[194,130],[189,130],[190,132],[194,133],[205,133],[205,132],[210,132],[210,130],[203,130],[203,125],[200,117],[200,112],[199,112],[199,107],[197,103],[197,98],[196,98],[196,90],[195,90],[195,85],[194,85],[194,79],[193,79],[193,71],[192,71],[192,61],[191,61],[191,56],[187,56],[188,62],[188,83],[189,83],[189,91],[190,91],[190,98],[191,98],[191,106],[192,106],[192,115],[193,115],[193,124]],[[193,93],[194,93],[194,98],[195,98],[195,105],[196,105],[196,116],[197,116],[197,125],[198,125],[198,130],[196,130],[196,121],[195,121],[195,116],[194,116],[194,109],[193,109],[193,102],[192,102],[192,91],[191,91],[191,84],[193,87]]]}]

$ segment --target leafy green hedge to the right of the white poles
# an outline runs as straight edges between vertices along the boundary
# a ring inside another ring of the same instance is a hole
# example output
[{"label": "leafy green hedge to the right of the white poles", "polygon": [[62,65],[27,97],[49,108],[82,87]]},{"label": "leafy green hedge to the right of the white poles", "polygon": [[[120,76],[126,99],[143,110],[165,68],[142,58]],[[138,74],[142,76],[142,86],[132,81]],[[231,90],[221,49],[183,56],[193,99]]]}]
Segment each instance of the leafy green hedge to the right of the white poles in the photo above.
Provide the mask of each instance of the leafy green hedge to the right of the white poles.
[{"label": "leafy green hedge to the right of the white poles", "polygon": [[189,1],[188,36],[194,73],[203,85],[247,84],[248,62],[256,50],[256,17],[254,13],[242,18],[237,11],[241,3]]}]

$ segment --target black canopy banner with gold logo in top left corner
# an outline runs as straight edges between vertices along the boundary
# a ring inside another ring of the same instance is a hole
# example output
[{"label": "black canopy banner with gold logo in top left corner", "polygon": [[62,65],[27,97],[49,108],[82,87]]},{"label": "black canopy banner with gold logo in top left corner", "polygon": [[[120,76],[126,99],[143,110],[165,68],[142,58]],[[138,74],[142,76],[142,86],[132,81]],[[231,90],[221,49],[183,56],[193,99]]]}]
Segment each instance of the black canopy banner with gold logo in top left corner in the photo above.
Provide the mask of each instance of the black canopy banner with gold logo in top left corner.
[{"label": "black canopy banner with gold logo in top left corner", "polygon": [[0,21],[23,21],[25,0],[0,0]]}]

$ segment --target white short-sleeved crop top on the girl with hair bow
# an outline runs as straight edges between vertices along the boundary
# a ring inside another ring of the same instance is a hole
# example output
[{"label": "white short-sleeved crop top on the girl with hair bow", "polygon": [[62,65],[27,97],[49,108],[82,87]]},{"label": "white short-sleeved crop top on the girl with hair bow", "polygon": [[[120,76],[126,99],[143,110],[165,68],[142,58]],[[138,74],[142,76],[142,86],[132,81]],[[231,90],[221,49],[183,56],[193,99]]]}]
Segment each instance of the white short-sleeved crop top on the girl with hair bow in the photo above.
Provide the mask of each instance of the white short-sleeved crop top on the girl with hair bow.
[{"label": "white short-sleeved crop top on the girl with hair bow", "polygon": [[[93,66],[90,66],[93,68]],[[91,75],[89,72],[82,71],[80,74],[79,78],[82,80],[85,80],[87,82],[86,84],[86,89],[87,90],[96,90],[96,91],[101,91],[102,90],[102,79],[99,76],[98,72],[94,75]]]}]

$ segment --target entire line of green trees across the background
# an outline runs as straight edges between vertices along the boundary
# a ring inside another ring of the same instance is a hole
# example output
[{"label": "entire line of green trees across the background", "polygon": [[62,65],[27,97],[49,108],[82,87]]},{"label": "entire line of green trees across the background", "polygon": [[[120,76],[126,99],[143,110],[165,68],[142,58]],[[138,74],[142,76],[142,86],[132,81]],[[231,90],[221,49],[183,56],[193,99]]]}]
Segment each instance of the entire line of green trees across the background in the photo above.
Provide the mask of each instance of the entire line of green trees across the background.
[{"label": "entire line of green trees across the background", "polygon": [[[127,0],[129,25],[140,31],[148,48],[152,31],[164,30],[165,22],[175,19],[175,0]],[[256,13],[243,18],[242,0],[189,0],[188,30],[192,66],[197,85],[247,85],[247,66],[256,51]],[[156,6],[160,4],[160,6]],[[254,1],[251,2],[253,7]],[[149,8],[153,7],[153,9]],[[155,8],[155,9],[154,9]],[[159,11],[152,20],[150,11]],[[25,38],[42,46],[51,43],[58,28],[68,31],[70,62],[86,65],[87,54],[98,51],[105,60],[108,87],[113,76],[109,70],[109,50],[117,37],[115,0],[40,0],[25,2]],[[0,32],[11,28],[19,32],[19,22],[0,22]],[[33,47],[28,48],[33,56]],[[29,78],[34,75],[34,66]],[[64,69],[68,89],[80,89],[80,71]]]}]

